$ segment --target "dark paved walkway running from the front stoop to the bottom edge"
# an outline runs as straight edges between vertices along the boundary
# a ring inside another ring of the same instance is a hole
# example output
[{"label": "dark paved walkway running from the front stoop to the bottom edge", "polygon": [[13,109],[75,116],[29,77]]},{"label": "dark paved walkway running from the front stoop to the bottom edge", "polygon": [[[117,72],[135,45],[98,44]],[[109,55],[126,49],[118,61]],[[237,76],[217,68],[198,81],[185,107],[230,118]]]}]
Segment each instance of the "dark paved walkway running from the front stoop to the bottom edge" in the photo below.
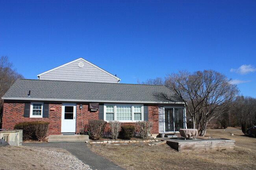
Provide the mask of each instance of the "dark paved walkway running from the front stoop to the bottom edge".
[{"label": "dark paved walkway running from the front stoop to the bottom edge", "polygon": [[104,157],[91,152],[87,143],[83,142],[22,143],[22,146],[63,148],[94,170],[124,170]]}]

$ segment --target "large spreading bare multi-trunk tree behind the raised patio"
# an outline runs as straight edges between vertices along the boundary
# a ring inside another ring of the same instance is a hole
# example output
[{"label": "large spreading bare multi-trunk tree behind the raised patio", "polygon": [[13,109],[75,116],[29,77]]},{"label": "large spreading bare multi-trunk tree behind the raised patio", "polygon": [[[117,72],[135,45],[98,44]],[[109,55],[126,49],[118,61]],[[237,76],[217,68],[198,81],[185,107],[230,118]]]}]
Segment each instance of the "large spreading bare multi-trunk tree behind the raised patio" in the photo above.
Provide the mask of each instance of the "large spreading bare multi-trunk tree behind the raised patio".
[{"label": "large spreading bare multi-trunk tree behind the raised patio", "polygon": [[230,80],[213,70],[194,73],[179,71],[178,74],[167,76],[165,86],[185,102],[193,128],[204,136],[207,123],[221,115],[239,92],[236,85],[230,84]]}]

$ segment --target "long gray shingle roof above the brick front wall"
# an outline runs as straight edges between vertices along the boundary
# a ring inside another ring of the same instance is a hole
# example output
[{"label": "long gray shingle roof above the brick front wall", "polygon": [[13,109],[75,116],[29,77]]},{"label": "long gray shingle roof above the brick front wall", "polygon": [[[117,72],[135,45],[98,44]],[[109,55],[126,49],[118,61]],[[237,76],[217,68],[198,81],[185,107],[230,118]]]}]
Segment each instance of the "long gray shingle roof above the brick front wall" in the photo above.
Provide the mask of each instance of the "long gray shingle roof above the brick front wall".
[{"label": "long gray shingle roof above the brick front wall", "polygon": [[[28,97],[28,91],[31,97]],[[45,101],[182,102],[165,86],[18,79],[2,99]]]}]

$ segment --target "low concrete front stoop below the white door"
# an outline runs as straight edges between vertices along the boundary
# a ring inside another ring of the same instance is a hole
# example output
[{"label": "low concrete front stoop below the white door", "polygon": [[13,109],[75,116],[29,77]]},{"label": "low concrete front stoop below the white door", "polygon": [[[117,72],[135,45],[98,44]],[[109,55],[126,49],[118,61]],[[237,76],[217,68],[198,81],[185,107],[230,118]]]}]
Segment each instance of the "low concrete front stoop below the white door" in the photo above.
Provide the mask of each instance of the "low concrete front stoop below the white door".
[{"label": "low concrete front stoop below the white door", "polygon": [[49,135],[48,142],[89,142],[88,135]]}]

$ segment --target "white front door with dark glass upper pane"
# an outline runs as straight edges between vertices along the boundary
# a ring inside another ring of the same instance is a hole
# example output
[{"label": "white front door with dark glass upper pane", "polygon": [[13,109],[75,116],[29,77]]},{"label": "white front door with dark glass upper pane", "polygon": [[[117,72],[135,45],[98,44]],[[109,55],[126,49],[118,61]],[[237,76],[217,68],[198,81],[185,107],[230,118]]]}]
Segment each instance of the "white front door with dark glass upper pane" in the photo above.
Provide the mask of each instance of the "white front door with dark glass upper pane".
[{"label": "white front door with dark glass upper pane", "polygon": [[76,133],[76,104],[62,104],[61,133]]}]

